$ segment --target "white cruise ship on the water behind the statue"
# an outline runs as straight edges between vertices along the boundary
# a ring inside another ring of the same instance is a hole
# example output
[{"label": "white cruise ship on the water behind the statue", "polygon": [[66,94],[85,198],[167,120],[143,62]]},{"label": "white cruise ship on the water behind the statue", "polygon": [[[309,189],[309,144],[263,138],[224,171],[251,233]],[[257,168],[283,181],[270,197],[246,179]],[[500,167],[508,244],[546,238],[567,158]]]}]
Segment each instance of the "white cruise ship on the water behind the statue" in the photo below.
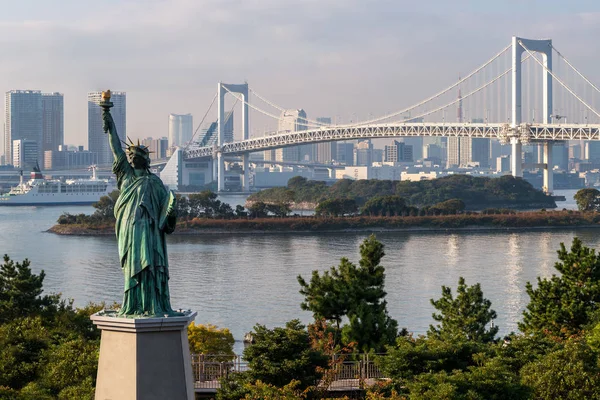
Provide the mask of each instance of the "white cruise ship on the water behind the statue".
[{"label": "white cruise ship on the water behind the statue", "polygon": [[0,195],[0,206],[49,206],[63,204],[93,204],[100,197],[116,189],[116,182],[96,177],[96,166],[91,179],[45,179],[39,168],[34,168],[29,181],[21,182],[10,192]]}]

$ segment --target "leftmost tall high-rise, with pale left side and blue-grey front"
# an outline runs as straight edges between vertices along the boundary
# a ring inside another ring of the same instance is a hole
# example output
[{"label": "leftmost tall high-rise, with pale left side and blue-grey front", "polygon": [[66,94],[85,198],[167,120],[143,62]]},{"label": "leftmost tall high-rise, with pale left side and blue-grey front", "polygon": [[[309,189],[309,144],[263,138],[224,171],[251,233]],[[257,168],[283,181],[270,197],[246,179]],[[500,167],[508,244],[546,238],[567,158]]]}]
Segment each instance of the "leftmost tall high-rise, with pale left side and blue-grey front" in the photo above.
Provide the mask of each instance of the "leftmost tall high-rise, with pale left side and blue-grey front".
[{"label": "leftmost tall high-rise, with pale left side and blue-grey front", "polygon": [[10,90],[6,92],[4,109],[4,153],[7,162],[14,160],[13,143],[27,139],[37,143],[37,159],[43,164],[42,92]]}]

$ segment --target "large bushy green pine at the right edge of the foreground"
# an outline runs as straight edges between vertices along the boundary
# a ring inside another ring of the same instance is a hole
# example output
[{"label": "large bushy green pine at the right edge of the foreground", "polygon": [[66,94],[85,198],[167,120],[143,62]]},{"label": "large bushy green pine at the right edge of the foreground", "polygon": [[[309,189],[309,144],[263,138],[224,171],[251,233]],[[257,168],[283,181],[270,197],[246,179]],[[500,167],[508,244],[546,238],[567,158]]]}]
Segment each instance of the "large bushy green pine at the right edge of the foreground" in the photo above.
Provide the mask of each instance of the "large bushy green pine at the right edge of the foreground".
[{"label": "large bushy green pine at the right edge of the foreground", "polygon": [[567,338],[592,322],[600,303],[600,255],[574,238],[570,251],[560,244],[558,259],[560,277],[538,278],[535,289],[527,282],[530,301],[519,323],[524,333]]}]

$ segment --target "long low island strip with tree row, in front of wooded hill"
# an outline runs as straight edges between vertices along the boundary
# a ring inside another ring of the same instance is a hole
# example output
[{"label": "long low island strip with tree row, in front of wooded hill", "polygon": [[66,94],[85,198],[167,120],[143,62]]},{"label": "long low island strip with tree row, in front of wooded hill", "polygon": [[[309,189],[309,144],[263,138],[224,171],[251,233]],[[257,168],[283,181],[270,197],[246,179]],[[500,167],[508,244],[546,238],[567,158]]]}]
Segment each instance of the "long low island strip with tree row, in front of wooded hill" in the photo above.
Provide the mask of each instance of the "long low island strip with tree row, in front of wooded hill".
[{"label": "long low island strip with tree row, in front of wooded hill", "polygon": [[[385,181],[381,182],[386,184]],[[113,235],[113,207],[118,195],[115,191],[110,196],[102,197],[94,204],[96,211],[92,215],[61,215],[57,224],[49,231],[62,235]],[[414,193],[413,196],[425,195]],[[535,192],[533,196],[537,196]],[[547,199],[548,196],[544,195],[544,198]],[[299,216],[293,213],[289,197],[273,203],[253,201],[247,204],[248,208],[241,205],[233,208],[219,200],[216,193],[203,191],[177,196],[178,223],[174,234],[418,230],[445,232],[600,227],[600,192],[596,189],[582,189],[575,199],[579,211],[517,211],[493,207],[472,211],[467,209],[460,198],[417,207],[397,194],[384,194],[373,195],[362,204],[348,197],[325,199],[317,204],[313,215]]]}]

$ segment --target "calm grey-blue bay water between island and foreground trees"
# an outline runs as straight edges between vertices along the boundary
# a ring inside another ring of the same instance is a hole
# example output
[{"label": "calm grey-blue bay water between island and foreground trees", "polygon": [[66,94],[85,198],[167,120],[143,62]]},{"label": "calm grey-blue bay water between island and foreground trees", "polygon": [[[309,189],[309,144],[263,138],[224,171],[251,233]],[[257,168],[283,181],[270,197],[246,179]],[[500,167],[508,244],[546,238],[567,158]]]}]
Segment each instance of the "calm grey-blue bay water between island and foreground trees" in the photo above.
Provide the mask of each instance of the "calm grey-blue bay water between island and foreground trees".
[{"label": "calm grey-blue bay water between island and foreground trees", "polygon": [[[565,191],[566,194],[571,192]],[[574,191],[573,191],[574,193]],[[572,194],[559,208],[573,208]],[[237,198],[224,199],[232,204]],[[0,207],[0,253],[29,258],[44,269],[47,292],[61,292],[82,306],[121,301],[123,279],[114,237],[67,237],[44,231],[63,212],[91,213],[91,207]],[[358,259],[366,234],[253,234],[170,236],[171,303],[198,311],[197,323],[231,329],[236,339],[255,323],[281,326],[300,310],[296,276],[309,277]],[[501,333],[517,330],[529,301],[527,281],[554,273],[560,242],[579,236],[598,248],[600,229],[540,232],[380,233],[385,244],[386,290],[390,314],[401,327],[424,333],[433,323],[429,299],[441,285],[456,287],[459,276],[480,282],[498,313]]]}]

